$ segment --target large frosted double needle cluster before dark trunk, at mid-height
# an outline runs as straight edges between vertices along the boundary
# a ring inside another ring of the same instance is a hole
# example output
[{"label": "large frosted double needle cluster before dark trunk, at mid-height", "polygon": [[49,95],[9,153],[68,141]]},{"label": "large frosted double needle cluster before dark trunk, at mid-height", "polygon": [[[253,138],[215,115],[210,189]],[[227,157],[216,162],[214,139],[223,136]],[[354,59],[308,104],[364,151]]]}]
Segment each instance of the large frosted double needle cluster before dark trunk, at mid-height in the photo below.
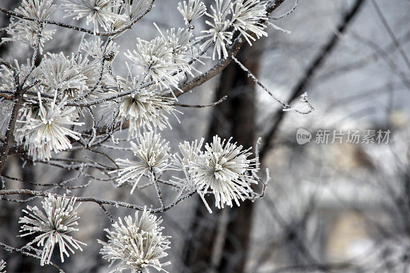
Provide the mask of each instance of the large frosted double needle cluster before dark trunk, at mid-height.
[{"label": "large frosted double needle cluster before dark trunk, at mid-height", "polygon": [[250,159],[250,149],[243,150],[241,145],[231,143],[231,139],[221,140],[217,135],[212,143],[205,144],[205,151],[201,151],[203,139],[179,144],[180,155],[173,156],[173,166],[182,171],[184,178],[177,178],[178,185],[198,192],[208,211],[211,208],[204,199],[204,195],[211,193],[215,196],[215,206],[221,208],[224,204],[239,206],[253,191],[251,184],[257,184],[252,172],[259,170],[258,158]]}]

